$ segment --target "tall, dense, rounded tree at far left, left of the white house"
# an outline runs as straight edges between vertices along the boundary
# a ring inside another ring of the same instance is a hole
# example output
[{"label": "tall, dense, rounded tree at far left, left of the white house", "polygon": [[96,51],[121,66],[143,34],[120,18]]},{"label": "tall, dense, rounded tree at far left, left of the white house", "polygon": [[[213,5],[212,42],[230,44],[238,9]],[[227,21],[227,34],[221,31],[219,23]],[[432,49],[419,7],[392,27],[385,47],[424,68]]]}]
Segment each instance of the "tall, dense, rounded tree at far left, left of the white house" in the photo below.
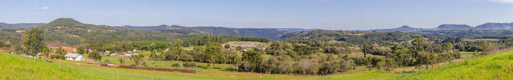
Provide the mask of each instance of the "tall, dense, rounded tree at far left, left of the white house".
[{"label": "tall, dense, rounded tree at far left, left of the white house", "polygon": [[38,52],[43,51],[43,48],[46,46],[43,43],[43,34],[44,31],[38,28],[31,29],[23,34],[22,41],[28,55],[35,56]]}]

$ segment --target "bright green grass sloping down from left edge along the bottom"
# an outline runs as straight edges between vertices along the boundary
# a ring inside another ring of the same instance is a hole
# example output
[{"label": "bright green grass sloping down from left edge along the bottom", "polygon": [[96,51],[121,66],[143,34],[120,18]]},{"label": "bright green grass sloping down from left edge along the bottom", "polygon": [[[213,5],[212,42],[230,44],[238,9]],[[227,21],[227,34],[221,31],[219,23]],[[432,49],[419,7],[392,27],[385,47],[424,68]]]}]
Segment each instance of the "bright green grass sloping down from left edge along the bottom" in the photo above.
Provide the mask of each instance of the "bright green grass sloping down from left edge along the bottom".
[{"label": "bright green grass sloping down from left edge along the bottom", "polygon": [[387,72],[360,72],[327,76],[287,76],[259,73],[179,73],[110,68],[47,62],[0,52],[0,79],[383,79],[397,75]]}]

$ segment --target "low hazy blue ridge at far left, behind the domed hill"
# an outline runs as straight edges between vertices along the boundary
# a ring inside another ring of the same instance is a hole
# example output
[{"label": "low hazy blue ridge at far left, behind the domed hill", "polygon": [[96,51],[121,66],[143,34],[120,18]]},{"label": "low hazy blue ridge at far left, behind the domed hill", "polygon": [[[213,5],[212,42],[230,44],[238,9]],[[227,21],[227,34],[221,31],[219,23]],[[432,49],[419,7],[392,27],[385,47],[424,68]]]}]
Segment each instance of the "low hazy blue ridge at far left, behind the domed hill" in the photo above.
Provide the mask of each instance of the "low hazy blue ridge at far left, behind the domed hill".
[{"label": "low hazy blue ridge at far left, behind the domed hill", "polygon": [[35,28],[36,26],[44,25],[45,23],[15,23],[9,24],[0,22],[0,29],[25,29],[25,28]]}]

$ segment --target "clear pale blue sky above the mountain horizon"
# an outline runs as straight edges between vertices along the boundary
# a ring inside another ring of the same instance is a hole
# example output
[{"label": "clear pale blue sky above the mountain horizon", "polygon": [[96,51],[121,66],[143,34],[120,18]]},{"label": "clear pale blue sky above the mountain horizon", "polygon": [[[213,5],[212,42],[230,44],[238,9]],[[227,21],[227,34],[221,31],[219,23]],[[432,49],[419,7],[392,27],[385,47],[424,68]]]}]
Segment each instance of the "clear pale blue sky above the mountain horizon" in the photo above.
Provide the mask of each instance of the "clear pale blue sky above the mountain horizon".
[{"label": "clear pale blue sky above the mountain horizon", "polygon": [[401,25],[513,22],[513,0],[6,1],[0,22],[224,26],[231,28],[389,29]]}]

